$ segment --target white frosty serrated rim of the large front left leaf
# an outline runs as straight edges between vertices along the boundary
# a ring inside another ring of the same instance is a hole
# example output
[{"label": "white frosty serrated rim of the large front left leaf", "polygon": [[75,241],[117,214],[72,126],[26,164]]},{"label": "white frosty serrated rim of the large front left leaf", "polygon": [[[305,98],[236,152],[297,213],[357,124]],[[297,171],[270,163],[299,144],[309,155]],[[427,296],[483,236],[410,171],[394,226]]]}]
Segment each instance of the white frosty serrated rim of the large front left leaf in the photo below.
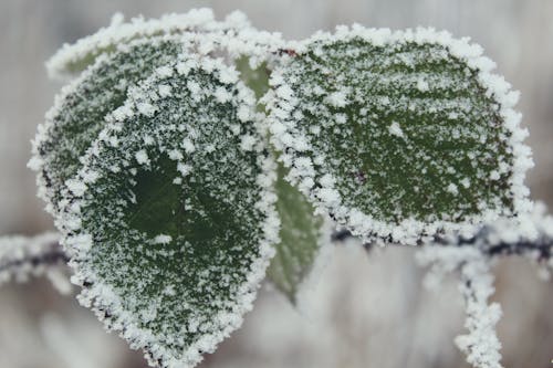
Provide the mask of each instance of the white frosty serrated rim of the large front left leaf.
[{"label": "white frosty serrated rim of the large front left leaf", "polygon": [[[220,60],[211,60],[209,65],[201,63],[202,56],[199,55],[187,55],[189,60],[197,62],[198,67],[202,67],[206,72],[216,71],[229,71]],[[165,72],[164,72],[165,73]],[[165,74],[154,73],[149,78],[144,81],[145,85],[155,84],[157,81],[166,77]],[[239,95],[248,95],[249,90],[243,85],[242,82],[237,83],[237,88]],[[247,92],[248,91],[248,92]],[[241,93],[242,92],[242,93]],[[254,102],[249,104],[243,101],[251,111],[254,111]],[[122,107],[122,111],[132,111],[126,108],[128,102]],[[128,117],[125,115],[124,117]],[[122,117],[122,118],[124,118]],[[259,116],[258,116],[259,118]],[[87,185],[93,185],[90,181],[91,177],[95,177],[95,172],[90,172],[86,164],[91,160],[93,155],[97,155],[102,150],[101,141],[108,139],[111,132],[117,130],[121,124],[117,117],[111,116],[109,124],[104,128],[100,138],[93,144],[92,148],[88,150],[87,155],[83,157],[83,168],[80,170],[79,175],[75,177],[75,181],[87,182]],[[265,134],[265,126],[258,120],[258,129],[261,132],[260,136]],[[190,355],[182,360],[170,358],[170,353],[167,351],[163,346],[156,344],[155,336],[147,329],[140,328],[135,322],[132,315],[128,313],[123,313],[121,315],[106,315],[103,307],[103,301],[111,299],[109,305],[115,306],[115,309],[124,309],[121,304],[121,299],[116,296],[114,292],[111,291],[111,286],[102,283],[95,274],[81,267],[80,261],[87,256],[88,250],[93,246],[93,240],[87,233],[80,233],[80,211],[81,207],[84,204],[83,194],[86,192],[86,186],[74,190],[73,192],[67,192],[67,201],[65,201],[65,207],[63,212],[60,214],[56,225],[62,232],[61,244],[64,246],[65,251],[71,255],[72,261],[69,263],[74,270],[75,274],[72,277],[72,282],[76,285],[83,286],[81,294],[77,296],[79,302],[91,308],[98,319],[104,323],[104,326],[109,330],[118,332],[121,337],[129,341],[132,348],[143,348],[145,350],[145,356],[152,366],[158,366],[163,361],[163,367],[194,367],[202,357],[199,351],[213,350],[215,347],[225,338],[230,335],[234,329],[240,327],[242,323],[243,314],[251,311],[253,301],[255,298],[257,290],[259,288],[261,282],[265,277],[265,270],[269,266],[270,259],[274,255],[273,245],[279,242],[279,230],[280,220],[278,212],[275,210],[274,203],[276,201],[276,194],[274,192],[273,183],[276,180],[275,174],[275,162],[270,157],[258,158],[258,165],[262,168],[263,174],[259,176],[258,183],[261,188],[260,201],[257,202],[257,208],[265,214],[265,220],[260,225],[263,232],[263,239],[261,240],[260,254],[261,256],[254,261],[252,264],[252,273],[248,276],[248,282],[240,286],[239,294],[242,296],[240,298],[240,304],[237,306],[239,308],[239,317],[232,323],[228,324],[218,336],[209,336],[209,339],[199,340],[188,347],[188,353]],[[91,283],[92,281],[92,283]],[[111,308],[114,309],[114,308]],[[211,344],[208,341],[216,341]],[[149,349],[148,349],[149,347]],[[154,348],[155,347],[155,348]]]}]

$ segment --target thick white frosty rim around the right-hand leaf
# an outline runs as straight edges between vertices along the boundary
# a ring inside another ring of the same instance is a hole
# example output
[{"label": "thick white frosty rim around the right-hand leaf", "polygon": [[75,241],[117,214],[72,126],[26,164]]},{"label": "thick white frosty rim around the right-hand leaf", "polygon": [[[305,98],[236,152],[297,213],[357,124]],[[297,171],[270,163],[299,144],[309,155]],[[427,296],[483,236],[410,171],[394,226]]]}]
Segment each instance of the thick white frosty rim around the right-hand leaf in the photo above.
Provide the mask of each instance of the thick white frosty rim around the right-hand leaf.
[{"label": "thick white frosty rim around the right-hand leaf", "polygon": [[[480,215],[469,217],[461,223],[451,221],[426,223],[415,219],[406,219],[399,224],[393,225],[376,220],[355,208],[342,204],[340,193],[330,183],[314,188],[313,160],[305,156],[299,160],[294,156],[294,150],[303,153],[312,150],[309,139],[299,132],[294,125],[294,117],[291,116],[291,112],[298,106],[299,101],[294,91],[285,83],[283,73],[286,64],[298,54],[307,51],[312,43],[332,43],[359,38],[375,45],[398,42],[441,45],[452,56],[466,62],[468,67],[477,72],[478,81],[486,93],[492,96],[500,106],[504,128],[511,133],[508,146],[513,153],[512,175],[509,178],[510,191],[513,197],[513,211],[509,209],[488,210]],[[514,215],[530,211],[533,203],[528,198],[530,191],[524,185],[524,178],[526,170],[533,167],[533,161],[530,147],[523,144],[528,136],[528,129],[520,126],[522,115],[513,109],[519,93],[511,91],[511,85],[502,76],[492,73],[495,63],[482,55],[483,50],[480,45],[469,41],[468,38],[455,39],[449,32],[439,32],[432,28],[390,31],[389,29],[366,29],[355,24],[352,28],[337,27],[334,33],[317,32],[310,39],[294,44],[292,52],[282,55],[280,64],[270,78],[271,91],[263,97],[270,111],[268,124],[271,132],[271,143],[283,153],[280,158],[285,167],[291,168],[289,178],[292,185],[298,186],[313,201],[317,210],[331,214],[338,225],[348,229],[364,242],[385,239],[390,242],[416,244],[420,240],[430,240],[439,231],[460,231],[470,235],[476,233],[483,222],[493,221],[501,215]],[[285,102],[286,106],[282,106],[281,102]]]}]

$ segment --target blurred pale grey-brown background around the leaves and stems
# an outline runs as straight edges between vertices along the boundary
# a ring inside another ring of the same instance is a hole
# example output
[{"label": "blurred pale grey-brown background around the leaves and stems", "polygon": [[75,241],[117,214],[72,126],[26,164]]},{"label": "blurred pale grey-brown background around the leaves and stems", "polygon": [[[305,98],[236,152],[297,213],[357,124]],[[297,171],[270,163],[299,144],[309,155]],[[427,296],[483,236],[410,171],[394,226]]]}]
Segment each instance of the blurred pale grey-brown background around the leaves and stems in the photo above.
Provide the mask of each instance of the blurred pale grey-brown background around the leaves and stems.
[{"label": "blurred pale grey-brown background around the leaves and stems", "polygon": [[[240,9],[261,29],[302,39],[319,29],[358,22],[403,29],[431,25],[470,35],[522,93],[530,128],[534,199],[553,206],[553,1],[551,0],[1,0],[0,234],[53,228],[27,169],[30,139],[61,85],[44,61],[109,22],[211,7],[218,18]],[[452,339],[463,332],[462,301],[451,278],[438,291],[421,286],[413,249],[366,254],[336,244],[317,282],[293,307],[263,286],[243,327],[202,367],[467,367]],[[524,260],[495,267],[494,299],[503,307],[499,335],[507,367],[551,368],[553,282]],[[140,368],[142,354],[106,334],[73,297],[48,281],[0,290],[0,368]]]}]

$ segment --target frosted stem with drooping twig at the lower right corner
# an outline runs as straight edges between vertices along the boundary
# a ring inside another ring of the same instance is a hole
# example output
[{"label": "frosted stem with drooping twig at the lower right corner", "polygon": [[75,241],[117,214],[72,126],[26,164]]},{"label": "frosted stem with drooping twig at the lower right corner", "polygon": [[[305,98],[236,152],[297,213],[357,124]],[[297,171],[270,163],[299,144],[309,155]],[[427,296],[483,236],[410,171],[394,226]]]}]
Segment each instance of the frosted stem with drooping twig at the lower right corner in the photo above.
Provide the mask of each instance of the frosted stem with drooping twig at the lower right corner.
[{"label": "frosted stem with drooping twig at the lower right corner", "polygon": [[438,243],[417,253],[418,262],[430,266],[426,285],[435,287],[444,275],[460,271],[469,333],[457,337],[456,344],[473,367],[501,368],[501,344],[494,330],[501,307],[488,304],[494,291],[489,263],[502,254],[521,254],[543,265],[549,274],[553,270],[553,218],[543,203],[536,203],[531,213],[487,223],[473,236],[448,235]]}]

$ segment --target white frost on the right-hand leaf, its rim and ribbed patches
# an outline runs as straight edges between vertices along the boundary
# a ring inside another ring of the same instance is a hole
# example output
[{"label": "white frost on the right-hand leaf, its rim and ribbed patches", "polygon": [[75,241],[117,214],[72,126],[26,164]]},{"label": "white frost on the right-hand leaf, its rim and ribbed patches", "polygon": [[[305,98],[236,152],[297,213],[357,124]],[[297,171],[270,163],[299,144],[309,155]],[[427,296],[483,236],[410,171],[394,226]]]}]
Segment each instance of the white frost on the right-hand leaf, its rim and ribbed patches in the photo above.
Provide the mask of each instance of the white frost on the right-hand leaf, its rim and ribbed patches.
[{"label": "white frost on the right-hand leaf, its rim and ribbed patches", "polygon": [[[442,46],[442,52],[439,51],[439,48],[436,48],[436,52],[431,53],[429,56],[425,53],[419,54],[417,57],[421,60],[425,60],[424,57],[434,57],[436,61],[456,59],[466,63],[467,71],[470,70],[474,72],[476,80],[483,88],[484,93],[492,97],[499,106],[499,114],[503,122],[502,128],[507,133],[501,135],[499,139],[502,140],[502,144],[504,144],[509,151],[513,153],[512,161],[498,162],[498,172],[501,172],[500,178],[508,181],[510,186],[509,192],[512,193],[513,208],[502,206],[501,203],[497,206],[492,206],[492,203],[488,206],[481,203],[480,213],[466,215],[462,221],[456,220],[453,219],[455,215],[451,215],[449,220],[436,218],[434,220],[420,221],[415,218],[405,218],[400,220],[399,223],[390,223],[379,220],[374,215],[369,215],[368,213],[364,213],[357,208],[346,206],[337,196],[333,187],[322,186],[322,188],[319,188],[316,185],[302,185],[302,190],[309,194],[310,198],[314,199],[317,211],[322,213],[332,213],[340,225],[346,227],[354,234],[362,236],[366,241],[374,240],[375,236],[392,236],[393,242],[404,244],[413,244],[420,239],[429,240],[437,231],[462,231],[466,234],[474,234],[483,222],[492,221],[500,215],[526,213],[532,208],[532,202],[528,198],[529,190],[524,185],[524,177],[526,170],[532,167],[533,162],[530,148],[523,144],[523,139],[528,136],[528,132],[520,127],[521,115],[512,109],[517,102],[518,93],[511,92],[510,85],[502,77],[491,73],[494,64],[489,59],[482,56],[482,48],[470,44],[468,39],[453,39],[448,32],[438,32],[430,28],[390,31],[386,29],[366,29],[355,24],[352,28],[337,28],[334,33],[317,32],[312,38],[294,44],[293,50],[298,54],[313,52],[322,55],[325,44],[337,41],[348,42],[358,39],[374,44],[375,46],[401,45],[405,43]],[[362,65],[362,61],[355,61],[354,56],[357,52],[356,50],[345,52],[351,52],[351,54],[346,54],[346,56],[352,56],[353,62],[359,63],[359,65],[353,65],[352,67],[365,67],[365,65]],[[337,51],[334,53],[334,56],[340,56]],[[409,63],[413,64],[414,61],[409,60],[408,56],[409,55],[404,59],[398,56],[397,62],[405,63],[406,65],[410,65]],[[347,130],[347,122],[345,124],[346,126],[344,126],[344,124],[337,124],[343,122],[343,119],[341,117],[336,118],[336,112],[334,109],[343,108],[351,103],[363,104],[366,102],[367,104],[380,106],[383,112],[388,109],[403,109],[413,112],[414,114],[417,112],[444,114],[445,119],[459,119],[466,112],[470,112],[471,103],[463,98],[447,101],[441,104],[432,104],[425,98],[405,102],[401,101],[401,98],[392,99],[389,96],[378,95],[372,101],[366,101],[364,96],[356,96],[355,91],[349,91],[347,85],[341,84],[347,81],[341,80],[344,76],[341,75],[340,72],[325,70],[328,67],[327,65],[321,65],[321,76],[324,77],[327,75],[336,80],[335,83],[338,87],[332,92],[315,91],[316,86],[312,88],[311,85],[295,84],[298,78],[300,78],[305,71],[302,71],[301,66],[294,69],[295,64],[290,63],[290,61],[291,59],[284,56],[282,66],[275,67],[270,80],[272,92],[265,95],[263,102],[267,103],[270,111],[269,129],[273,134],[271,143],[276,149],[283,153],[280,157],[282,162],[291,167],[289,177],[292,183],[320,183],[317,182],[319,179],[330,170],[326,168],[333,165],[336,165],[336,167],[340,165],[327,164],[332,162],[333,158],[327,157],[323,149],[319,151],[313,148],[314,144],[312,144],[311,140],[317,139],[317,137],[321,136],[321,130],[304,129],[298,123],[302,120],[302,114],[304,112],[309,114],[316,113],[321,116],[327,114],[327,116],[322,118],[321,125],[324,126],[326,124],[327,126],[332,126],[334,129],[331,130],[332,133],[344,135],[344,146],[351,144],[347,135],[352,133]],[[462,91],[462,88],[467,88],[462,80],[452,84],[453,81],[449,76],[441,78],[436,74],[432,75],[426,72],[413,73],[413,75],[409,75],[407,78],[403,78],[400,73],[390,73],[386,78],[375,77],[374,81],[376,84],[380,84],[376,86],[378,88],[383,86],[387,87],[388,85],[411,90],[416,88],[419,92],[427,92],[430,90],[439,91],[440,88],[460,88],[460,91]],[[313,96],[314,101],[320,98],[320,96],[324,96],[325,104],[312,103],[311,99],[305,102],[300,98],[300,96],[307,95]],[[373,117],[367,115],[369,112],[371,108],[359,108],[359,116],[363,117],[363,120],[367,120],[368,123],[371,123],[371,118],[377,118],[377,116]],[[378,122],[375,122],[375,124],[378,124]],[[445,129],[445,132],[447,130]],[[396,123],[392,123],[392,125],[388,126],[388,133],[394,136],[406,137],[405,127]],[[469,136],[473,135],[474,139],[481,138],[477,133],[453,130],[448,134],[452,139],[458,139],[463,134]],[[440,135],[437,136],[440,137]],[[422,155],[421,158],[426,159]],[[305,162],[306,160],[310,162]],[[314,169],[315,166],[317,167],[316,172]],[[509,176],[507,176],[507,174],[509,174]],[[357,182],[363,182],[364,180],[363,172],[352,172],[352,178],[354,177],[357,178]],[[498,175],[493,174],[492,178],[495,177],[498,177]],[[457,183],[445,183],[444,190],[453,194],[458,193],[460,188],[470,187],[471,179],[472,178],[458,178],[458,185],[461,187],[458,187]],[[352,182],[352,188],[357,188],[357,186],[354,186]],[[358,190],[361,191],[362,189]],[[398,196],[400,196],[400,193],[398,193]]]}]

